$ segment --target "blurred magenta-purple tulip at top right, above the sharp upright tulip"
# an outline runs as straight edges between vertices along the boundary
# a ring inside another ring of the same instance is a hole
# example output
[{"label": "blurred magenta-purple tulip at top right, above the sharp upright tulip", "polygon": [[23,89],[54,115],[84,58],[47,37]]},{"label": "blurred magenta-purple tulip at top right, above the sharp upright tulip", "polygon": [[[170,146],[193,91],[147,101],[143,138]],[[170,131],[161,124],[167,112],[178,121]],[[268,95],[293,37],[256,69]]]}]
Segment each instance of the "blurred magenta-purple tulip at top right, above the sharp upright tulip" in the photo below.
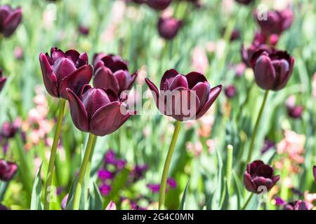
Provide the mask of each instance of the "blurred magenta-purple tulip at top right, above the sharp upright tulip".
[{"label": "blurred magenta-purple tulip at top right, above the sharp upright tulip", "polygon": [[261,27],[263,34],[270,36],[271,34],[282,34],[282,32],[291,27],[293,22],[293,12],[287,8],[282,11],[268,11],[265,15],[256,13],[258,25]]}]

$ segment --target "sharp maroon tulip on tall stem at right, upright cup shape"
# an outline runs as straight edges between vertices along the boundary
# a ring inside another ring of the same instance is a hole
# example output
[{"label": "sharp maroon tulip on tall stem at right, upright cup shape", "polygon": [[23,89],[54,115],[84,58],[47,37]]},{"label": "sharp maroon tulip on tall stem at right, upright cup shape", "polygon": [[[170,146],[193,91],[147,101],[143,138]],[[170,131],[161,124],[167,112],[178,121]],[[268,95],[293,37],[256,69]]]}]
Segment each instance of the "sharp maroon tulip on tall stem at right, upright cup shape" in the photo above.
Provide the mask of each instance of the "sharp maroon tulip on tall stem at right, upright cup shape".
[{"label": "sharp maroon tulip on tall stem at right, upright cup shape", "polygon": [[286,51],[259,50],[251,59],[257,85],[263,90],[281,90],[291,77],[294,61]]}]

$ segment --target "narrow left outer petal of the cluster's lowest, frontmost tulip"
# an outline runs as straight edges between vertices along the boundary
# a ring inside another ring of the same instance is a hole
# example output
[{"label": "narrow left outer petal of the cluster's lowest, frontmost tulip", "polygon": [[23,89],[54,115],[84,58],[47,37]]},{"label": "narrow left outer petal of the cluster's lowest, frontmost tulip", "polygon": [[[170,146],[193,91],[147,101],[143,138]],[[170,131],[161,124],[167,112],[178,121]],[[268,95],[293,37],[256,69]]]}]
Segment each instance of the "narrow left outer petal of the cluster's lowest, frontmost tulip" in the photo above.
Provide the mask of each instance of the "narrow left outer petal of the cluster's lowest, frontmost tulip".
[{"label": "narrow left outer petal of the cluster's lowest, frontmost tulip", "polygon": [[82,104],[81,100],[77,95],[70,90],[66,89],[67,99],[70,104],[70,114],[72,115],[72,121],[74,125],[83,132],[88,132],[88,114],[86,113],[86,109],[84,104]]}]

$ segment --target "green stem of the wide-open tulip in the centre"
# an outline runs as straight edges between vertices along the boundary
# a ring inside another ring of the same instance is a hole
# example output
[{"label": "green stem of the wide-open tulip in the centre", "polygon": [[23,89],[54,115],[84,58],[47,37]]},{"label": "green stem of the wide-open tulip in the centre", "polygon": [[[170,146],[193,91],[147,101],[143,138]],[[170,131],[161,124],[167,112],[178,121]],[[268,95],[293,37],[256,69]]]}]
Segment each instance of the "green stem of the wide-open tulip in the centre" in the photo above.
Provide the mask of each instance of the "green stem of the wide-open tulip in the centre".
[{"label": "green stem of the wide-open tulip in the centre", "polygon": [[164,171],[162,172],[162,181],[160,183],[160,190],[159,190],[159,205],[158,205],[159,209],[162,209],[162,207],[164,206],[164,198],[166,195],[166,181],[168,179],[168,172],[169,172],[169,167],[171,163],[171,158],[173,155],[174,148],[176,146],[176,141],[178,139],[179,131],[180,131],[180,121],[177,120],[176,127],[173,132],[171,144],[169,146],[169,151],[166,156],[166,161],[164,162]]}]

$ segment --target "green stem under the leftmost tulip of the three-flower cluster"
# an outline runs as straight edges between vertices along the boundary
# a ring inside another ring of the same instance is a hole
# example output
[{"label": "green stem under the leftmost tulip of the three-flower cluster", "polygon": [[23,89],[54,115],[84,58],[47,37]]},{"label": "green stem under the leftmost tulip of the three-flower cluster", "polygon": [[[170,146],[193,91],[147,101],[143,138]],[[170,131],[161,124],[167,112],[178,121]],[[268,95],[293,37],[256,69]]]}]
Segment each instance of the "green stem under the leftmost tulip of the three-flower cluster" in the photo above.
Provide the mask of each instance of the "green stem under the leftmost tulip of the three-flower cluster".
[{"label": "green stem under the leftmost tulip of the three-flower cluster", "polygon": [[58,115],[53,145],[51,146],[51,157],[49,158],[49,162],[48,162],[48,169],[47,169],[47,176],[46,176],[46,183],[45,183],[45,194],[44,194],[45,195],[45,197],[44,197],[44,209],[45,210],[49,210],[49,204],[50,204],[49,202],[51,199],[51,195],[49,193],[50,193],[51,183],[53,181],[55,159],[56,159],[56,154],[57,154],[57,147],[58,147],[58,141],[59,141],[59,137],[60,137],[60,131],[61,131],[61,127],[62,127],[62,119],[63,119],[64,113],[65,113],[65,105],[66,105],[66,100],[60,99],[59,106],[58,106],[59,115]]}]

